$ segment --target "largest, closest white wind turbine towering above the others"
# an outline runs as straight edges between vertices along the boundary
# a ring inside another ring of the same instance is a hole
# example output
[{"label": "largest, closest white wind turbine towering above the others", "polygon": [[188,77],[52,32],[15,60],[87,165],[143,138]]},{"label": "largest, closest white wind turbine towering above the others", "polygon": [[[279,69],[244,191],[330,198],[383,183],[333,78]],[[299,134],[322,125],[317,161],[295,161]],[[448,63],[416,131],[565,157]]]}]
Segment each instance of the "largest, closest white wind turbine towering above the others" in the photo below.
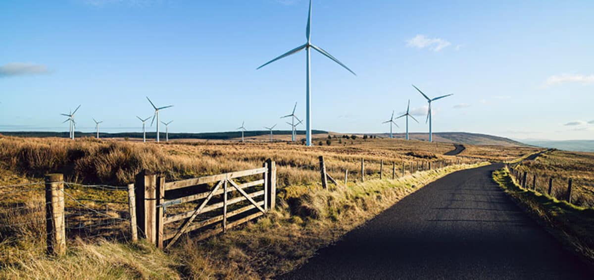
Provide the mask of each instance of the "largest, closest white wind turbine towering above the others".
[{"label": "largest, closest white wind turbine towering above the others", "polygon": [[311,59],[310,59],[310,52],[311,49],[315,49],[315,51],[320,52],[320,54],[323,54],[324,56],[326,56],[327,58],[330,58],[331,60],[333,60],[334,62],[336,62],[337,64],[339,64],[340,66],[344,67],[346,70],[349,70],[350,73],[352,73],[353,75],[356,75],[355,72],[353,72],[352,70],[350,70],[348,67],[346,67],[345,64],[343,64],[342,62],[340,62],[338,59],[334,58],[334,56],[332,56],[331,54],[328,54],[328,52],[324,51],[322,48],[315,46],[311,43],[311,0],[309,0],[309,14],[307,17],[307,27],[305,28],[305,37],[307,38],[307,42],[304,45],[298,46],[295,49],[292,49],[288,52],[286,52],[283,55],[280,55],[277,58],[272,59],[271,61],[266,62],[266,64],[261,65],[260,67],[258,67],[257,69],[260,69],[268,64],[271,64],[274,61],[277,61],[281,58],[285,58],[289,55],[293,55],[296,54],[300,51],[302,51],[303,49],[305,49],[305,52],[307,53],[307,55],[305,56],[305,61],[306,61],[306,71],[305,71],[305,108],[306,108],[306,114],[305,114],[305,127],[306,127],[306,144],[307,146],[311,146],[311,95],[310,95],[310,89],[311,89],[311,82],[310,82],[310,73],[311,73],[311,65],[309,65]]}]

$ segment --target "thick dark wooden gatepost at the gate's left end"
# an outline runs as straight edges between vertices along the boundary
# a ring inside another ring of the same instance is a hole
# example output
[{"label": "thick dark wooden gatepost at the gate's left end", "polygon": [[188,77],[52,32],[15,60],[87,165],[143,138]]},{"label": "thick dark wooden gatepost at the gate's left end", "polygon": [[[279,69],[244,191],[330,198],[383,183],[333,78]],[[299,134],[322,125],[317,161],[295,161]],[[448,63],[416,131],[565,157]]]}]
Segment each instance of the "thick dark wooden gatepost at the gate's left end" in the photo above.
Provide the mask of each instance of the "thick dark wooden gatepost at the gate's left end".
[{"label": "thick dark wooden gatepost at the gate's left end", "polygon": [[136,177],[136,218],[141,236],[150,244],[157,241],[157,176],[146,169]]}]

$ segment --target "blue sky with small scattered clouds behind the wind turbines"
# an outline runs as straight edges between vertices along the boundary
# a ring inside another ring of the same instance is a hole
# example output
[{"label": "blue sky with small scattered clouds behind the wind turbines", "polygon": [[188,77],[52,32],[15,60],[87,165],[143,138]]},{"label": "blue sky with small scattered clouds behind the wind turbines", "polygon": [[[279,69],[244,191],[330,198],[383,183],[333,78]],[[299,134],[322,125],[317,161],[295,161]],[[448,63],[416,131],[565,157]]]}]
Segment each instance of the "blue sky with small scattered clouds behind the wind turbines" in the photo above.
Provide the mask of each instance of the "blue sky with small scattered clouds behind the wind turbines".
[{"label": "blue sky with small scattered clouds behind the wind turbines", "polygon": [[[314,0],[312,127],[594,139],[594,1]],[[0,131],[289,130],[305,117],[307,0],[0,1]],[[403,119],[397,120],[405,129]],[[164,127],[162,127],[164,130]],[[301,128],[302,129],[302,128]],[[147,130],[154,130],[147,128]]]}]

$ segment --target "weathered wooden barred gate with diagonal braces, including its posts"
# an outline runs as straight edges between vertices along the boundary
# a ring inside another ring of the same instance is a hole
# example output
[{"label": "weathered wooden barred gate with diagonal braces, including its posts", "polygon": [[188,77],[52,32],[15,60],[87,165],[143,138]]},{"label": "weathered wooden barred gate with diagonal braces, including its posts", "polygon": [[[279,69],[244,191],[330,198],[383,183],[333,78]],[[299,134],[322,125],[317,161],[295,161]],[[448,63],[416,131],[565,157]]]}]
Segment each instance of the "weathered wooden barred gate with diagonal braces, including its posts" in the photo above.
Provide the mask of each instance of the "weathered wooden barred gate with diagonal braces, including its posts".
[{"label": "weathered wooden barred gate with diagonal braces, including its posts", "polygon": [[137,207],[137,217],[146,218],[138,226],[159,248],[169,248],[188,232],[196,231],[195,239],[201,240],[258,218],[274,207],[276,197],[276,166],[271,160],[262,168],[181,181],[157,177],[154,196],[151,178],[144,177],[145,209],[139,213]]}]

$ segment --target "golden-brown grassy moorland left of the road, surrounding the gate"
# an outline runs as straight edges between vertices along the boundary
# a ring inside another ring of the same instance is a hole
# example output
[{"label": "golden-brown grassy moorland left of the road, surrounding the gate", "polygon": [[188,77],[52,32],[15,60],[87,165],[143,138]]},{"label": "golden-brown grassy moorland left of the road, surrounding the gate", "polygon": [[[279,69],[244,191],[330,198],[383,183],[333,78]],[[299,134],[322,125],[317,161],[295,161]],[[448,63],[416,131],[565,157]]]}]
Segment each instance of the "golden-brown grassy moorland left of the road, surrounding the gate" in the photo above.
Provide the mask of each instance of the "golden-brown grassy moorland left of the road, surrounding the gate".
[{"label": "golden-brown grassy moorland left of the road, surrounding the gate", "polygon": [[[0,137],[0,278],[260,278],[286,272],[315,250],[380,213],[418,186],[471,165],[464,163],[511,161],[530,147],[467,145],[459,156],[443,156],[452,144],[390,139],[316,139],[314,147],[299,144],[203,143],[176,140],[139,143],[125,140],[74,141],[58,138]],[[349,170],[346,188],[322,190],[318,156],[328,173],[341,181]],[[196,242],[184,238],[163,254],[151,246],[129,244],[125,234],[125,186],[143,169],[166,175],[166,180],[200,177],[257,168],[271,158],[277,163],[277,210],[255,223],[228,234]],[[361,178],[365,161],[365,182]],[[400,177],[391,178],[392,162]],[[410,174],[426,162],[461,163],[434,171]],[[67,229],[69,254],[64,260],[44,254],[44,174],[65,175],[67,219],[78,221]],[[14,185],[20,184],[20,185]],[[24,184],[24,185],[22,185]],[[32,184],[32,185],[27,185]],[[78,185],[84,184],[84,185]],[[89,186],[93,185],[93,186]],[[113,234],[116,232],[116,234]],[[113,252],[113,254],[112,254]]]}]

